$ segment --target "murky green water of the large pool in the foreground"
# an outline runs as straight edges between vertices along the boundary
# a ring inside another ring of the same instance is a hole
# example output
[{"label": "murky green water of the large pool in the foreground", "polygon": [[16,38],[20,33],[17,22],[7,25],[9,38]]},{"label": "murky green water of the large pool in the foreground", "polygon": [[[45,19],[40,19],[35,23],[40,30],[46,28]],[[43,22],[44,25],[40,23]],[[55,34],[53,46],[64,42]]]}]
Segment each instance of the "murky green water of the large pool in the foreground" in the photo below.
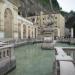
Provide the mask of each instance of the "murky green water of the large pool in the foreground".
[{"label": "murky green water of the large pool in the foreground", "polygon": [[35,44],[16,48],[17,67],[8,75],[53,75],[54,51],[40,47]]}]

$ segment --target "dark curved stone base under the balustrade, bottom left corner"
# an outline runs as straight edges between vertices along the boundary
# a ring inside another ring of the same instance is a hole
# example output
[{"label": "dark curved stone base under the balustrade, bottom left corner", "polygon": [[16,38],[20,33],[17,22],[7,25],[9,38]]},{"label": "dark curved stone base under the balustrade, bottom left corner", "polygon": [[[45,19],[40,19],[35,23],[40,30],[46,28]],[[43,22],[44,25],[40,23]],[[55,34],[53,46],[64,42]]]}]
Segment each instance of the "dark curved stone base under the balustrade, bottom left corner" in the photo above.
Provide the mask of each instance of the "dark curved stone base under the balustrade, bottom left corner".
[{"label": "dark curved stone base under the balustrade, bottom left corner", "polygon": [[[11,61],[11,62],[9,62]],[[0,63],[0,75],[5,75],[7,74],[8,72],[10,72],[12,69],[16,68],[16,60],[9,60],[9,61],[5,61],[4,62],[4,65],[2,65]],[[2,61],[0,61],[2,62]]]}]

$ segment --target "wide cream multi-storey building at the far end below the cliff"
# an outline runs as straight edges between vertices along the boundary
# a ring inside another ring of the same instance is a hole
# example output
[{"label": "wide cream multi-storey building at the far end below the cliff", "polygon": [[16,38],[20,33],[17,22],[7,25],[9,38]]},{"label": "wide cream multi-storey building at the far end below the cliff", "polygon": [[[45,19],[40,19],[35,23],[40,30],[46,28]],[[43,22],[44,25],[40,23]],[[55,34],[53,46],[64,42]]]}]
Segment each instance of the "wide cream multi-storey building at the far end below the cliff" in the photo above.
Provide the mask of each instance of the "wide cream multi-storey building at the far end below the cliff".
[{"label": "wide cream multi-storey building at the far end below the cliff", "polygon": [[44,15],[41,12],[39,16],[27,17],[27,19],[38,26],[38,35],[42,35],[41,32],[45,30],[49,36],[64,37],[65,19],[60,13]]}]

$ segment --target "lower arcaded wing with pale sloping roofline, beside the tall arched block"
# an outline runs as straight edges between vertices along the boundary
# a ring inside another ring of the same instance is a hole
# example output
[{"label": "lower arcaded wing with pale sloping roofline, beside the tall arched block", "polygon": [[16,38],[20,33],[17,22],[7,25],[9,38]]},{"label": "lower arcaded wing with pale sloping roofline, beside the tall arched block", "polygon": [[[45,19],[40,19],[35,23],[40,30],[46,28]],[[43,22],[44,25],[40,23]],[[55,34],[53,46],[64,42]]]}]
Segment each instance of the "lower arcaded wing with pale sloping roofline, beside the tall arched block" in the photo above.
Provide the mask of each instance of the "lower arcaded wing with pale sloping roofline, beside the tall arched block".
[{"label": "lower arcaded wing with pale sloping roofline, beside the tall arched block", "polygon": [[24,19],[21,16],[18,16],[17,19],[19,39],[37,38],[37,26],[34,26],[32,22]]}]

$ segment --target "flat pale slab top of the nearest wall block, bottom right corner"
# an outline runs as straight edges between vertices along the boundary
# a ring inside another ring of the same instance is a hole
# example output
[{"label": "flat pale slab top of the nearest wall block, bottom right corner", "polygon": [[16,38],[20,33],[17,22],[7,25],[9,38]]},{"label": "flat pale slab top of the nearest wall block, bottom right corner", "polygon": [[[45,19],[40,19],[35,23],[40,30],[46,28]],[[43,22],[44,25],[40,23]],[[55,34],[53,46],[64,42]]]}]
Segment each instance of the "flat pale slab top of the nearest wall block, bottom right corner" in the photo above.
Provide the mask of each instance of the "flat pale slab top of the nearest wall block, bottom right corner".
[{"label": "flat pale slab top of the nearest wall block, bottom right corner", "polygon": [[60,75],[75,75],[74,64],[68,61],[60,61]]}]

